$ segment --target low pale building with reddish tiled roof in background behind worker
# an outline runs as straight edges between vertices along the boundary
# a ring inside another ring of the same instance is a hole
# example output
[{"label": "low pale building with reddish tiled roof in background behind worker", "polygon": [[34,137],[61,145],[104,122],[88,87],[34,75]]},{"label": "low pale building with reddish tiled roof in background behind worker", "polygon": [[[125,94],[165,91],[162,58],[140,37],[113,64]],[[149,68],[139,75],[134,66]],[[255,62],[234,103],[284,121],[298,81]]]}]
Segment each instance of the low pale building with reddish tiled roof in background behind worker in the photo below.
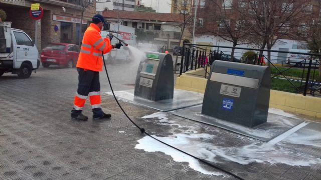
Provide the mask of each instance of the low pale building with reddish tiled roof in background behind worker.
[{"label": "low pale building with reddish tiled roof in background behind worker", "polygon": [[102,14],[107,21],[118,23],[118,13],[120,24],[134,27],[136,34],[138,31],[152,32],[155,34],[153,42],[159,46],[166,45],[168,49],[179,45],[181,14],[117,10],[105,10]]}]

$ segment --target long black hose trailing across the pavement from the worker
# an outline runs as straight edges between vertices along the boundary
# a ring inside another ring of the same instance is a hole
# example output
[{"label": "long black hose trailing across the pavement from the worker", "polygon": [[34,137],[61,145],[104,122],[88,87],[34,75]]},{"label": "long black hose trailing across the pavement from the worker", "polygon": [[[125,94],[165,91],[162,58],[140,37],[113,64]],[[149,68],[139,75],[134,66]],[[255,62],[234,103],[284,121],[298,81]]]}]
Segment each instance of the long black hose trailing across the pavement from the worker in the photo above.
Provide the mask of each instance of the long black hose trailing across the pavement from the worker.
[{"label": "long black hose trailing across the pavement from the worker", "polygon": [[172,146],[172,145],[170,145],[170,144],[168,144],[168,143],[166,143],[166,142],[163,142],[162,140],[159,140],[159,139],[151,136],[149,133],[147,133],[147,132],[145,131],[144,128],[140,128],[133,120],[131,120],[131,118],[127,115],[127,113],[125,112],[125,110],[122,108],[122,106],[121,106],[120,103],[118,102],[118,99],[117,99],[117,97],[116,97],[116,95],[115,95],[115,93],[114,93],[114,90],[112,89],[112,85],[111,85],[110,78],[109,78],[109,75],[108,75],[108,71],[107,71],[107,67],[106,67],[106,63],[105,63],[105,57],[104,57],[103,52],[102,52],[102,58],[103,58],[103,61],[104,61],[104,67],[105,67],[105,70],[106,70],[106,74],[107,74],[109,86],[110,86],[111,92],[112,92],[112,94],[113,94],[113,96],[114,96],[114,98],[115,98],[118,106],[120,107],[120,109],[122,110],[122,112],[126,115],[126,117],[130,120],[130,122],[132,122],[137,128],[139,128],[139,130],[140,130],[141,133],[145,133],[145,134],[148,135],[149,137],[157,140],[158,142],[161,142],[161,143],[163,143],[163,144],[165,144],[165,145],[167,145],[167,146],[170,146],[170,147],[172,147],[172,148],[174,148],[174,149],[176,149],[176,150],[178,150],[178,151],[180,151],[180,152],[183,152],[183,153],[185,153],[185,154],[187,154],[187,155],[189,155],[189,156],[191,156],[191,157],[193,157],[193,158],[196,158],[197,160],[199,160],[199,161],[201,161],[201,162],[203,162],[203,163],[205,163],[205,164],[207,164],[207,165],[209,165],[209,166],[211,166],[211,167],[213,167],[213,168],[219,169],[219,170],[221,170],[221,171],[223,171],[223,172],[225,172],[225,173],[227,173],[227,174],[229,174],[229,175],[232,175],[233,177],[235,177],[235,178],[237,178],[237,179],[244,180],[244,178],[242,178],[242,177],[240,177],[240,176],[238,176],[238,175],[236,175],[236,174],[234,174],[234,173],[232,173],[232,172],[230,172],[230,171],[227,171],[227,170],[225,170],[225,169],[223,169],[223,168],[221,168],[221,167],[219,167],[219,166],[216,166],[216,165],[208,162],[208,161],[205,160],[205,159],[196,157],[196,156],[194,156],[194,155],[192,155],[192,154],[190,154],[190,153],[188,153],[188,152],[185,152],[185,151],[183,151],[183,150],[181,150],[181,149],[179,149],[179,148],[176,148],[176,147],[174,147],[174,146]]}]

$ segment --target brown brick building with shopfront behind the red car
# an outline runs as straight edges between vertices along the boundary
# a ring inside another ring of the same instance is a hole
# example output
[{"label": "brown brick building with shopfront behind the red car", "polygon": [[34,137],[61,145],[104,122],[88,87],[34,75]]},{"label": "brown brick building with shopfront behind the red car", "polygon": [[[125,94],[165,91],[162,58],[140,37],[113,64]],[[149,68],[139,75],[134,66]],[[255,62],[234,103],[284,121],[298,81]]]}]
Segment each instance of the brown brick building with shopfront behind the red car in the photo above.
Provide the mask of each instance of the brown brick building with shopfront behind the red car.
[{"label": "brown brick building with shopfront behind the red car", "polygon": [[[29,16],[32,3],[40,3],[44,10],[40,20],[33,20]],[[85,10],[82,23],[81,6],[77,0],[6,0],[0,1],[0,7],[6,11],[6,21],[11,21],[13,28],[26,31],[33,40],[37,35],[38,50],[53,42],[78,44],[87,22],[91,21],[96,13],[94,0]],[[35,34],[35,23],[38,26],[38,34]]]}]

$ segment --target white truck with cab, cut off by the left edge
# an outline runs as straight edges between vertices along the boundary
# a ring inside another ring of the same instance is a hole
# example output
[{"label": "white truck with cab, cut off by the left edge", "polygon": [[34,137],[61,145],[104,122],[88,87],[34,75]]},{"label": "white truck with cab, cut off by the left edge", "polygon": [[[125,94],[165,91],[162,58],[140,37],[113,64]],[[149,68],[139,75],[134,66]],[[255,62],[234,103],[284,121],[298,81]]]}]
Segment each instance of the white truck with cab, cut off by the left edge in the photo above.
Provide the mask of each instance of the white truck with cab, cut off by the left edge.
[{"label": "white truck with cab, cut off by the left edge", "polygon": [[0,22],[0,76],[5,72],[20,78],[30,77],[40,65],[39,53],[30,36],[11,28],[11,22]]}]

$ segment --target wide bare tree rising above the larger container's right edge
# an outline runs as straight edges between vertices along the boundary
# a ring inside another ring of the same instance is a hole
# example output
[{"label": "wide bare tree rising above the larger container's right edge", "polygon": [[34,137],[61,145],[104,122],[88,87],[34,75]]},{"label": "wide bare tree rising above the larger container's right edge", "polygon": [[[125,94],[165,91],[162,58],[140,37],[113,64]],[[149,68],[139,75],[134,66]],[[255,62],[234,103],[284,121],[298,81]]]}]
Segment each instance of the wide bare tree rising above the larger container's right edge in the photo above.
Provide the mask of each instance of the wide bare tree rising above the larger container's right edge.
[{"label": "wide bare tree rising above the larger container's right edge", "polygon": [[[280,38],[288,38],[296,34],[301,20],[312,11],[311,0],[244,0],[247,4],[246,26],[251,35],[261,40],[261,49],[271,49]],[[262,51],[260,55],[262,55]],[[268,53],[268,59],[271,53]],[[270,66],[270,62],[268,61]]]}]

